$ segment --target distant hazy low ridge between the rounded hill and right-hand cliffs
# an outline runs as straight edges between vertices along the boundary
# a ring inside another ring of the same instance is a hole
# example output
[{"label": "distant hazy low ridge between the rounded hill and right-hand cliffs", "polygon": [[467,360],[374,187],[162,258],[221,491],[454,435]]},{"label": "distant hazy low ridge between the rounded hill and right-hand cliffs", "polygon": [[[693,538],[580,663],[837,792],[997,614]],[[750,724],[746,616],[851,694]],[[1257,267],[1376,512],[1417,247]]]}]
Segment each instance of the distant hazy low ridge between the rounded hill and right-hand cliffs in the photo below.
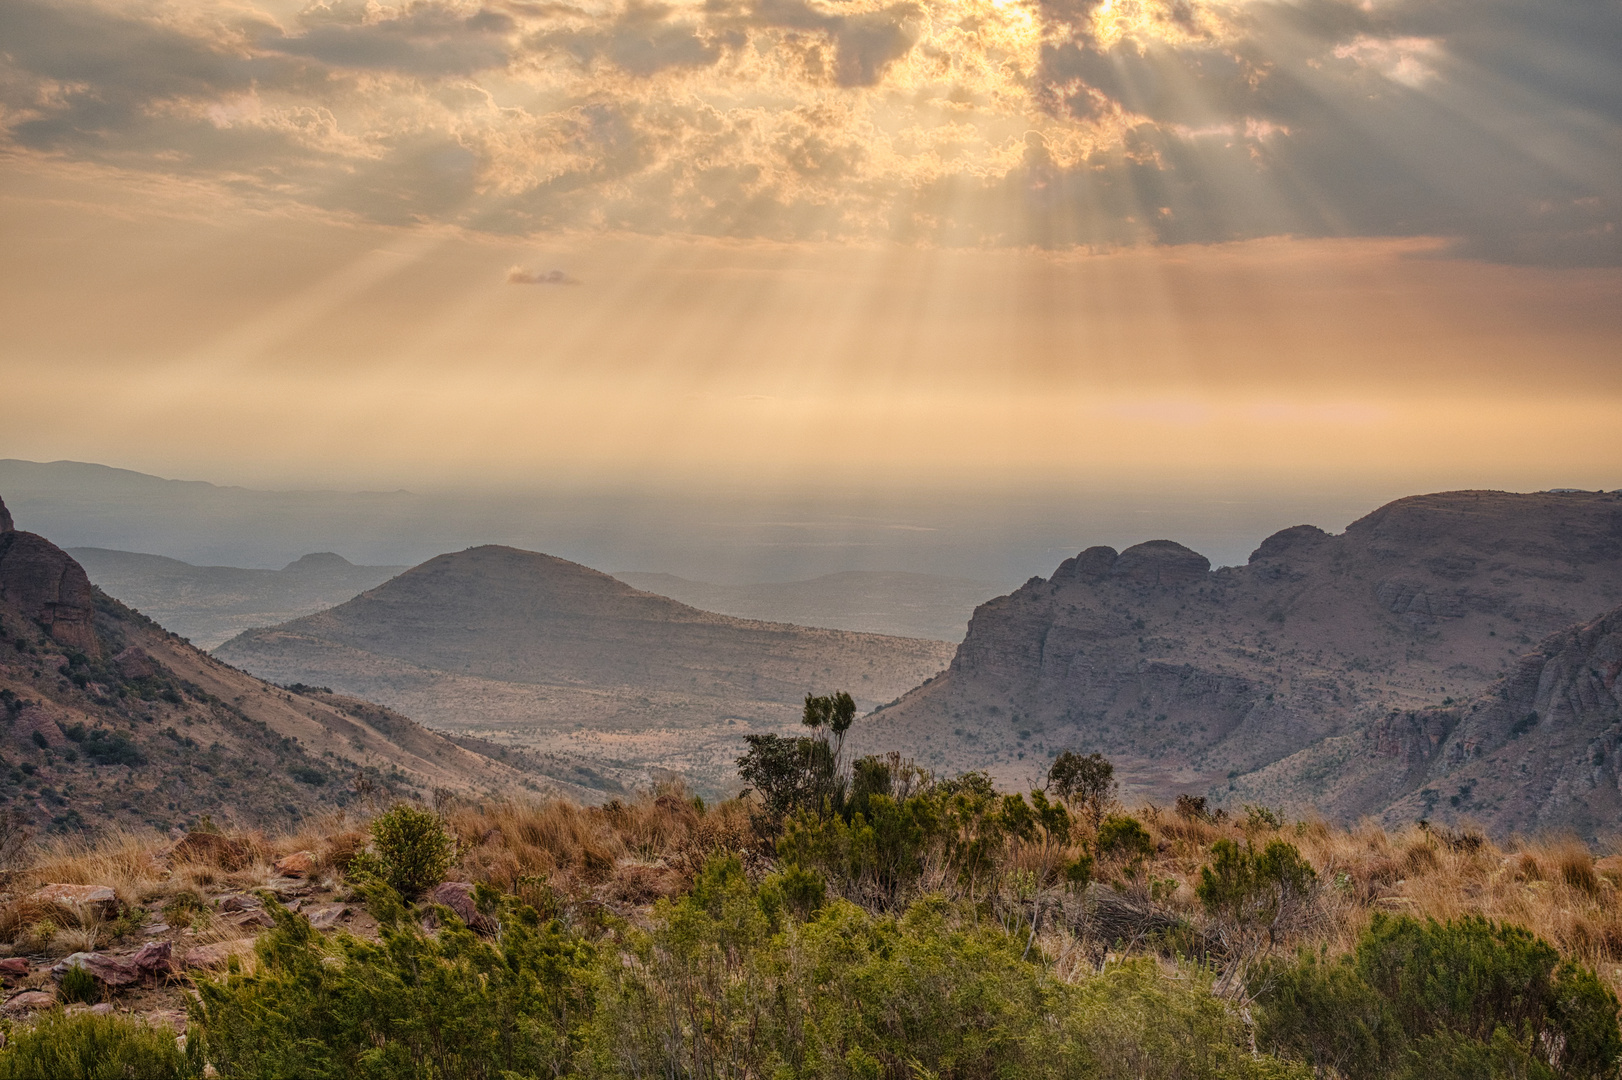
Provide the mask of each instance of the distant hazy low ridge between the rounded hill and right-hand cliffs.
[{"label": "distant hazy low ridge between the rounded hill and right-hand cliffs", "polygon": [[978,581],[899,571],[847,571],[809,581],[715,585],[675,574],[615,577],[706,611],[767,623],[960,642],[968,616],[998,589]]}]

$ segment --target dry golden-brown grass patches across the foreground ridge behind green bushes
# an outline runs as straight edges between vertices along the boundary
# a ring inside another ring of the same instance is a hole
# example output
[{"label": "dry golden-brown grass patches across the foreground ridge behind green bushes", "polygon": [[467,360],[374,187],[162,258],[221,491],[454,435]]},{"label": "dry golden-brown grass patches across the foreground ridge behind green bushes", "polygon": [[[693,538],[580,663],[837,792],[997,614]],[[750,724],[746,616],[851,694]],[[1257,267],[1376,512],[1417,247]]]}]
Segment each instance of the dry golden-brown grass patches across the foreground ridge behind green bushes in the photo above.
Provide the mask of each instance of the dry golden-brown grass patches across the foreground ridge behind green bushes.
[{"label": "dry golden-brown grass patches across the foreground ridge behind green bushes", "polygon": [[[680,786],[599,808],[566,801],[449,803],[441,814],[457,843],[454,877],[516,892],[547,913],[582,903],[641,908],[683,892],[710,855],[759,848],[751,804],[733,799],[704,808]],[[1492,843],[1445,830],[1387,830],[1374,824],[1340,829],[1307,821],[1247,830],[1244,822],[1165,812],[1140,812],[1140,819],[1156,851],[1137,881],[1161,882],[1156,902],[1195,919],[1194,885],[1212,843],[1228,837],[1260,846],[1277,837],[1301,850],[1322,884],[1317,918],[1293,944],[1350,949],[1375,911],[1437,919],[1481,915],[1526,926],[1622,991],[1622,842],[1594,853],[1559,837]],[[302,850],[316,855],[318,877],[336,877],[363,850],[367,819],[333,814],[287,837],[234,840],[251,851],[251,861],[237,869],[201,859],[172,861],[172,843],[156,834],[112,832],[94,842],[45,843],[13,881],[10,902],[0,905],[0,939],[45,950],[97,932],[68,908],[28,898],[45,882],[112,885],[127,905],[165,910],[172,923],[193,924],[200,941],[235,937],[240,931],[219,919],[211,895],[263,885],[274,877],[276,858]],[[1054,868],[1080,850],[1074,843],[1028,848],[1004,869],[1051,879]],[[1098,876],[1108,879],[1119,869],[1101,863]],[[1174,885],[1165,887],[1168,882]],[[950,887],[939,868],[925,884]]]}]

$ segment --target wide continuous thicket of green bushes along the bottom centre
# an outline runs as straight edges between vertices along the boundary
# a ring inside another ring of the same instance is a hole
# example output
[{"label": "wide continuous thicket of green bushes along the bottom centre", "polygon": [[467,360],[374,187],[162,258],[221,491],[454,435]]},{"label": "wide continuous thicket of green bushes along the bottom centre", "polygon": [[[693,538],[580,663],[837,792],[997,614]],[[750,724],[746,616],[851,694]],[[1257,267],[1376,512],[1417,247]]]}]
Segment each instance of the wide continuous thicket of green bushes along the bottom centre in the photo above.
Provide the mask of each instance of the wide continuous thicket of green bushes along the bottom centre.
[{"label": "wide continuous thicket of green bushes along the bottom centre", "polygon": [[972,906],[871,915],[806,877],[751,884],[715,858],[599,945],[490,890],[495,941],[443,908],[430,936],[381,885],[381,944],[277,910],[255,971],[200,988],[193,1062],[227,1080],[1307,1075],[1252,1054],[1199,970],[1137,960],[1066,984]]}]

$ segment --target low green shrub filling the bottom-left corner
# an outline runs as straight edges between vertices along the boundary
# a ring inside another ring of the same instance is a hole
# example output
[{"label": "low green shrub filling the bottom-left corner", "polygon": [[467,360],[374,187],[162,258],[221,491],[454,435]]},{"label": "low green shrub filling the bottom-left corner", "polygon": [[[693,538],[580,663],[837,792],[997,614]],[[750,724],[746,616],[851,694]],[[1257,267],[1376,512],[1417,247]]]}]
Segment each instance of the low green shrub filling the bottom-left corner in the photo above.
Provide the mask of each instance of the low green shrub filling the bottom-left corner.
[{"label": "low green shrub filling the bottom-left corner", "polygon": [[47,1012],[0,1049],[0,1080],[169,1080],[196,1075],[174,1031],[122,1017]]}]

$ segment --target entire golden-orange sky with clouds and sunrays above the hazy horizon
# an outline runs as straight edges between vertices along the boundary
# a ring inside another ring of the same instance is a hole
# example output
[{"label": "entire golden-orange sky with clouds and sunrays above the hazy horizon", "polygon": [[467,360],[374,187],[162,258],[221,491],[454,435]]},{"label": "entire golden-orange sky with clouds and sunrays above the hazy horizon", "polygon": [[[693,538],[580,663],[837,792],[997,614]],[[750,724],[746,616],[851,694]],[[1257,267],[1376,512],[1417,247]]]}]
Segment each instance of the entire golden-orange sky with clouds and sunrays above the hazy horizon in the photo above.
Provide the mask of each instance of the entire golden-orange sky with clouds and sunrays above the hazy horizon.
[{"label": "entire golden-orange sky with clouds and sunrays above the hazy horizon", "polygon": [[0,457],[1622,488],[1619,221],[1619,0],[6,0]]}]

